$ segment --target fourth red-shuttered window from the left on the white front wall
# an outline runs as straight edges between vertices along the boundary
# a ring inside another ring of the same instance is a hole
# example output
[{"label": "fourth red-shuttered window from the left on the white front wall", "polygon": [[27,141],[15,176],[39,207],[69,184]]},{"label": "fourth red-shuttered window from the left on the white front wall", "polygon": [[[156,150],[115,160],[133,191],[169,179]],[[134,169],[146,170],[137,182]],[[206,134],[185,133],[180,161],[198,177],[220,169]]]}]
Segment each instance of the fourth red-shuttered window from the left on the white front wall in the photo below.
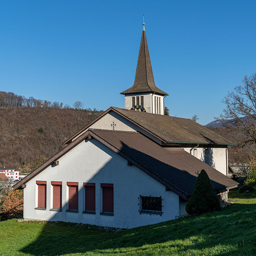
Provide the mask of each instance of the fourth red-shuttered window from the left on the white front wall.
[{"label": "fourth red-shuttered window from the left on the white front wall", "polygon": [[95,183],[83,183],[84,213],[95,214]]}]

